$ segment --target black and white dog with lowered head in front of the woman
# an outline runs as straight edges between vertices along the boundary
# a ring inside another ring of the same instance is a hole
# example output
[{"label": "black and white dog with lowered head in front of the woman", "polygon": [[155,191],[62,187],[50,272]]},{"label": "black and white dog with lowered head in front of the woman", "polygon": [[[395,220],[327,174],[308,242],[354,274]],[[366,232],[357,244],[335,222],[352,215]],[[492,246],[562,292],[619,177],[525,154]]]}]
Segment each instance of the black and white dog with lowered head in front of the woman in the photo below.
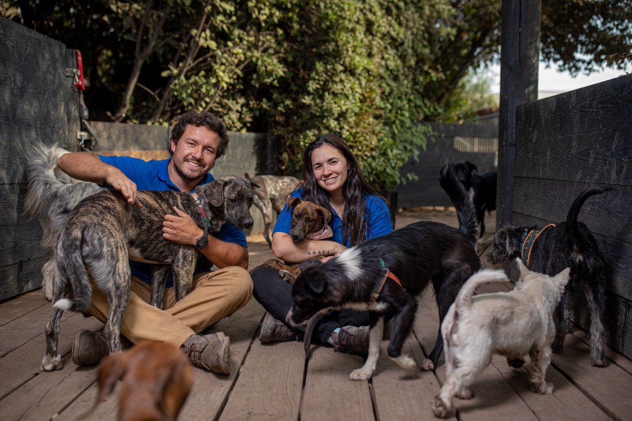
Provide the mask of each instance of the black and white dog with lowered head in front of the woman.
[{"label": "black and white dog with lowered head in front of the woman", "polygon": [[[294,303],[286,317],[289,324],[305,324],[317,313],[341,308],[369,312],[368,358],[362,369],[351,373],[352,380],[373,375],[386,315],[393,316],[389,357],[404,369],[415,368],[412,358],[401,355],[415,320],[415,297],[432,284],[442,322],[463,283],[480,268],[476,212],[470,198],[449,164],[441,169],[439,181],[456,208],[458,229],[420,221],[364,241],[325,263],[308,260],[300,265],[301,274],[292,287]],[[434,369],[442,350],[439,331],[422,368]]]}]

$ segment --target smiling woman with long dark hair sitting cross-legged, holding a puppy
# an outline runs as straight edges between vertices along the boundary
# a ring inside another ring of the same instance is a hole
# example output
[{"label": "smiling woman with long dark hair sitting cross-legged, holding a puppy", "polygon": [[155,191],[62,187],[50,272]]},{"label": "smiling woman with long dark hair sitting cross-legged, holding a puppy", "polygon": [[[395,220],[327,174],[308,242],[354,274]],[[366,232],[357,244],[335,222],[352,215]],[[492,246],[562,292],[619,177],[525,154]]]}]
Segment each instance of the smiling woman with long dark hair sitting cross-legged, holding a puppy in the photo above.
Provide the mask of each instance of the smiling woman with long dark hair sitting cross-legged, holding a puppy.
[{"label": "smiling woman with long dark hair sitting cross-legged, holding a puppy", "polygon": [[[392,231],[389,205],[365,180],[360,164],[340,137],[327,133],[310,143],[303,156],[303,170],[303,185],[291,197],[300,197],[331,210],[329,225],[333,236],[327,240],[305,239],[296,243],[289,236],[291,212],[284,208],[272,233],[272,252],[276,257],[298,263],[314,255],[330,256],[325,257],[325,261],[367,238]],[[260,341],[299,339],[305,333],[303,327],[295,330],[280,321],[285,320],[292,307],[291,285],[283,281],[279,271],[269,267],[253,272],[252,280],[253,295],[269,312]],[[334,351],[368,352],[368,312],[334,312],[325,315],[314,330],[314,336],[322,343],[334,345]]]}]

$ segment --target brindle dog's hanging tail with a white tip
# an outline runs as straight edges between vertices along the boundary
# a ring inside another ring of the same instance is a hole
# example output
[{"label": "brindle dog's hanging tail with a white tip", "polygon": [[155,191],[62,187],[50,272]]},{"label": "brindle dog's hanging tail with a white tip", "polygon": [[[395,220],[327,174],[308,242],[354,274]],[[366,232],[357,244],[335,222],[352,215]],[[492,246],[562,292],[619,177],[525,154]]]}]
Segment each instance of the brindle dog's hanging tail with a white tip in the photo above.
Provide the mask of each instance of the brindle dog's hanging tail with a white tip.
[{"label": "brindle dog's hanging tail with a white tip", "polygon": [[[66,225],[62,229],[66,229]],[[57,245],[58,250],[63,247],[67,252],[63,254],[63,257],[60,257],[59,253],[55,254],[55,278],[59,278],[56,279],[56,283],[60,285],[70,283],[73,288],[73,299],[61,298],[52,306],[61,310],[85,313],[92,300],[92,286],[90,286],[90,278],[88,278],[81,253],[83,230],[84,228],[67,229],[63,233],[63,245]]]}]

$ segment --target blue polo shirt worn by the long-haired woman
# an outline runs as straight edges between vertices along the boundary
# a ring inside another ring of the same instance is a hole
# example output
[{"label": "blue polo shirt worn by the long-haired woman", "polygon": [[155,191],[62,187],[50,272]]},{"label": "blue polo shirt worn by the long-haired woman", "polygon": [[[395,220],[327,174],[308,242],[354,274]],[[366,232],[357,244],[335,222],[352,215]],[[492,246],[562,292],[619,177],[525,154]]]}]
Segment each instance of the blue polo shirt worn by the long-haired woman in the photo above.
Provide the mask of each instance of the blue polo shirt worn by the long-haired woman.
[{"label": "blue polo shirt worn by the long-haired woman", "polygon": [[[303,192],[304,189],[299,188],[298,190],[292,192],[290,197],[303,198]],[[364,198],[367,202],[367,240],[368,238],[374,238],[390,233],[393,230],[393,226],[391,223],[391,212],[389,207],[386,205],[386,202],[374,195],[365,194]],[[276,224],[274,224],[272,234],[277,232],[289,234],[289,230],[292,227],[292,214],[287,211],[287,207],[288,204],[286,203],[279,214]],[[343,221],[340,219],[335,210],[331,221],[329,221],[329,226],[331,226],[334,236],[332,238],[327,238],[327,240],[343,244]],[[349,247],[349,240],[347,240],[347,243],[343,245]]]}]

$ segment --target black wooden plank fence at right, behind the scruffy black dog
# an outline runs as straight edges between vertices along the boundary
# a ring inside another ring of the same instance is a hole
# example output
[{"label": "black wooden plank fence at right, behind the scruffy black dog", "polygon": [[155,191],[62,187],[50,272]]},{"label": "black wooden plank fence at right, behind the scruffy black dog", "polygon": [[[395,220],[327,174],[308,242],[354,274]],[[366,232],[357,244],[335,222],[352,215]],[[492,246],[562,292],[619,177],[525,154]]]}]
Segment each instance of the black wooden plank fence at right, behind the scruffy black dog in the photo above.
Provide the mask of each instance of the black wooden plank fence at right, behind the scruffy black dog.
[{"label": "black wooden plank fence at right, behind the scruffy black dog", "polygon": [[[606,262],[608,343],[632,357],[632,75],[527,102],[516,123],[514,224],[564,221],[585,188],[616,189],[588,198],[579,220]],[[581,288],[576,300],[586,328]]]}]

